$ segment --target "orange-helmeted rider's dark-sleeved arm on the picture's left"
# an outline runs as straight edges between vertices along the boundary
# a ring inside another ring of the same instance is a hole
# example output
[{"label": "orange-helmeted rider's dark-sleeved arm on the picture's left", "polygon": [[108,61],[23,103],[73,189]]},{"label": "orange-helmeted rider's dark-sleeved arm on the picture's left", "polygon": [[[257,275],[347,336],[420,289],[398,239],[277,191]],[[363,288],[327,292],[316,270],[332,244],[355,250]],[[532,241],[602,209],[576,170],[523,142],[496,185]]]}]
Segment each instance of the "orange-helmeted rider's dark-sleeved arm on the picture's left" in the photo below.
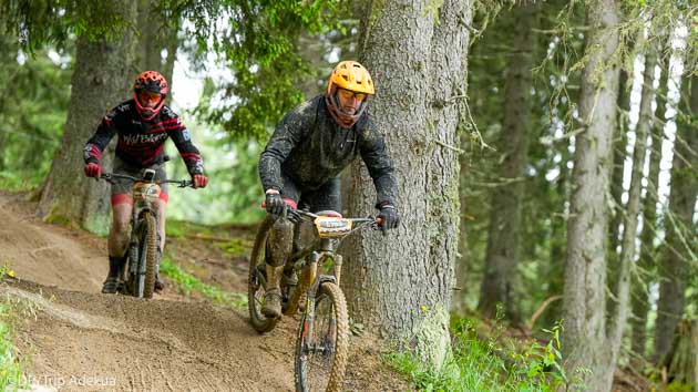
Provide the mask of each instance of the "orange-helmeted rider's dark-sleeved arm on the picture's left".
[{"label": "orange-helmeted rider's dark-sleeved arm on the picture's left", "polygon": [[314,123],[315,106],[304,102],[288,112],[276,126],[266,148],[259,156],[259,178],[265,192],[281,190],[281,164],[305,137]]}]

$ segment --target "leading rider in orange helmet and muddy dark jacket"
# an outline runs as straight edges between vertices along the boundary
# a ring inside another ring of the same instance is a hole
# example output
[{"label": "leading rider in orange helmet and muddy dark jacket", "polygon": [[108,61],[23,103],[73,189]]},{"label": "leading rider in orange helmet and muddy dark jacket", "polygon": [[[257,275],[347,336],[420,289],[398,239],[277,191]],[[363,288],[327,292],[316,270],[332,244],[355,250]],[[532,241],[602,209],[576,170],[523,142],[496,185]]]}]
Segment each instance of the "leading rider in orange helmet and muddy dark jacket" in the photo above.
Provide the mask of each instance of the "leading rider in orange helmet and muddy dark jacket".
[{"label": "leading rider in orange helmet and muddy dark jacket", "polygon": [[281,313],[279,283],[296,285],[291,265],[294,225],[287,205],[311,212],[340,212],[340,173],[360,155],[373,179],[376,208],[383,234],[398,226],[397,182],[383,137],[366,109],[374,94],[369,72],[355,61],[342,61],[332,71],[327,91],[306,101],[276,126],[259,157],[259,176],[267,213],[277,216],[267,246],[267,288],[261,312]]}]

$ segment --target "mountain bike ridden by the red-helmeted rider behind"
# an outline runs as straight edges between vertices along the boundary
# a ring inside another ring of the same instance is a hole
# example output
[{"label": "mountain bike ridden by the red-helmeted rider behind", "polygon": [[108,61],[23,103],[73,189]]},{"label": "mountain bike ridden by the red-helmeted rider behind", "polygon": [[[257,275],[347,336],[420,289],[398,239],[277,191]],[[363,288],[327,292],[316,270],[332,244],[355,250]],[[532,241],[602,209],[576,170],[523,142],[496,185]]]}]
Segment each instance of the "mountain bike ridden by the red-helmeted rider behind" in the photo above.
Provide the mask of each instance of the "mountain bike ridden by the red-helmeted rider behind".
[{"label": "mountain bike ridden by the red-helmeted rider behind", "polygon": [[160,261],[160,235],[157,234],[157,200],[162,192],[160,184],[176,184],[184,188],[193,186],[191,179],[156,180],[155,171],[143,171],[141,178],[126,174],[104,173],[100,177],[111,184],[115,178],[133,180],[133,213],[131,234],[126,249],[126,264],[120,272],[123,285],[119,292],[136,298],[153,298],[155,269]]}]

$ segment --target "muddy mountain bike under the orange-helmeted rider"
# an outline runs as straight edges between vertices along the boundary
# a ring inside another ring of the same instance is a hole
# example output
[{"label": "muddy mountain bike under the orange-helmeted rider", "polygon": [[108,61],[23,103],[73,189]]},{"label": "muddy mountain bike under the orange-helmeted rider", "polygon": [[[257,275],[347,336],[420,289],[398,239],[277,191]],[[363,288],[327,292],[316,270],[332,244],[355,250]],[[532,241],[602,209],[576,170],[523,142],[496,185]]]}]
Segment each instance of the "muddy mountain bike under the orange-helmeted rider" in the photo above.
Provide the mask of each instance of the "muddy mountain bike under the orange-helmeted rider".
[{"label": "muddy mountain bike under the orange-helmeted rider", "polygon": [[[294,288],[281,282],[284,316],[295,314],[305,302],[296,341],[296,390],[339,391],[347,365],[349,320],[347,301],[339,288],[342,258],[337,248],[342,239],[357,230],[378,228],[380,219],[341,218],[297,209],[289,209],[288,218],[296,224],[296,230],[301,230],[300,225],[306,223],[312,225],[310,244],[295,249],[289,259],[294,271],[300,272],[298,286]],[[279,321],[261,313],[267,281],[265,251],[275,220],[276,217],[267,215],[261,223],[249,258],[247,303],[252,324],[260,333],[273,330]]]}]

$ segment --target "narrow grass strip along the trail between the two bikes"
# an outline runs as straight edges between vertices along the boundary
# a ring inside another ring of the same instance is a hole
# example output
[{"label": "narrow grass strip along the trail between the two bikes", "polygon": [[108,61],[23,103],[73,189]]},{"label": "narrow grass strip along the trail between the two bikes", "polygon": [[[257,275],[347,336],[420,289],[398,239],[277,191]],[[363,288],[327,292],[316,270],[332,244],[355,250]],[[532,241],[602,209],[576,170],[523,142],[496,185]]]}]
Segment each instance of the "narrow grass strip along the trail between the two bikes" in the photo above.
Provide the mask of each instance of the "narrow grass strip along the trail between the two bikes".
[{"label": "narrow grass strip along the trail between the two bikes", "polygon": [[183,270],[168,257],[163,257],[160,264],[161,272],[173,280],[184,295],[197,292],[212,301],[236,309],[247,307],[247,296],[240,292],[227,292],[215,286],[206,285],[198,278]]}]

